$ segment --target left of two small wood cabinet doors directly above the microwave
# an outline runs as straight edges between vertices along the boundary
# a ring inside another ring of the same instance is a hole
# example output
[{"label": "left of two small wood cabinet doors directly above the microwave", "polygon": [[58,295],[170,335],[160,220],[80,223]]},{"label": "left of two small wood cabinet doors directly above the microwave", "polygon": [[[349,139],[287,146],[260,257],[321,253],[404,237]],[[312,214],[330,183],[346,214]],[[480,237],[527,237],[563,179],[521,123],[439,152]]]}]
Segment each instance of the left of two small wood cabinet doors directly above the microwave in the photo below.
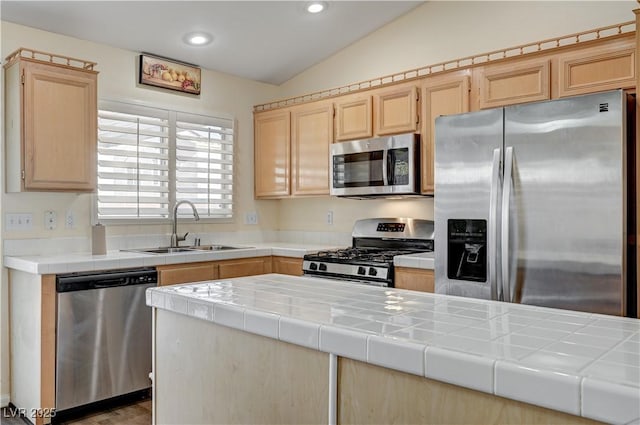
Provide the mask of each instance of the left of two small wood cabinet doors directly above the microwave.
[{"label": "left of two small wood cabinet doors directly above the microwave", "polygon": [[345,96],[335,101],[336,140],[364,139],[373,136],[371,96]]}]

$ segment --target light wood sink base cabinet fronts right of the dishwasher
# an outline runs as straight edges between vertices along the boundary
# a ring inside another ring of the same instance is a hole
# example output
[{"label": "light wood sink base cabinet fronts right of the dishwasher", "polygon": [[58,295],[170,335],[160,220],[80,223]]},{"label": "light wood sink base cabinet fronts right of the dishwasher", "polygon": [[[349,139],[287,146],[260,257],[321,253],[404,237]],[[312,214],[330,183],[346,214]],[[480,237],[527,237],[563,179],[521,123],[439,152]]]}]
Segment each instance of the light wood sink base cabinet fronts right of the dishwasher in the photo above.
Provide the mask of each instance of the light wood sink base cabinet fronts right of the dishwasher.
[{"label": "light wood sink base cabinet fronts right of the dishwasher", "polygon": [[271,257],[157,266],[158,286],[271,273]]}]

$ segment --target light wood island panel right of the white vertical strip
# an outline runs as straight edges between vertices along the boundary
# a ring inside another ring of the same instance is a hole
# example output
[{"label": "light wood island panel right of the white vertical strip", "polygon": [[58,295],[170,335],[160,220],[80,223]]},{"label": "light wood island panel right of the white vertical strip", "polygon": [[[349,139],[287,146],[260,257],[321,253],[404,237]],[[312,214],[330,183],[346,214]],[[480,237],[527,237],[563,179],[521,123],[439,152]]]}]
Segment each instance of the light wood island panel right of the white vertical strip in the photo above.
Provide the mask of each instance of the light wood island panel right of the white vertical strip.
[{"label": "light wood island panel right of the white vertical strip", "polygon": [[600,423],[344,357],[338,365],[342,424]]}]

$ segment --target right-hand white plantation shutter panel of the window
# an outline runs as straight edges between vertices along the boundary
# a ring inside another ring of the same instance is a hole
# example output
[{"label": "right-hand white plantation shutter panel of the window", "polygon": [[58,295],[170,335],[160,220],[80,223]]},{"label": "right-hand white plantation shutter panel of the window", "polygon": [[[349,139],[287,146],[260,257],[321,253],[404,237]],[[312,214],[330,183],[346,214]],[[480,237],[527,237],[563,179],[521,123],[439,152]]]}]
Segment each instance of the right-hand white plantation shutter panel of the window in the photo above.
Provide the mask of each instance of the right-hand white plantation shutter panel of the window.
[{"label": "right-hand white plantation shutter panel of the window", "polygon": [[193,202],[201,217],[232,216],[232,120],[177,114],[176,199]]}]

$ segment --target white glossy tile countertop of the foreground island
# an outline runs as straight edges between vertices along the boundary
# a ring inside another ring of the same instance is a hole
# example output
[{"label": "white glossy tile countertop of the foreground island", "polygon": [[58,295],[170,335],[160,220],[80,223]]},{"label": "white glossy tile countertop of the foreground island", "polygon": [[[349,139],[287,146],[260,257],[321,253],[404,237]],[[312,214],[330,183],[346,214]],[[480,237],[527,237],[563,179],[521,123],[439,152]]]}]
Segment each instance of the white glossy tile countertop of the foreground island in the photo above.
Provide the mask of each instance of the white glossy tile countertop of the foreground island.
[{"label": "white glossy tile countertop of the foreground island", "polygon": [[615,424],[640,423],[640,320],[278,274],[147,304]]}]

